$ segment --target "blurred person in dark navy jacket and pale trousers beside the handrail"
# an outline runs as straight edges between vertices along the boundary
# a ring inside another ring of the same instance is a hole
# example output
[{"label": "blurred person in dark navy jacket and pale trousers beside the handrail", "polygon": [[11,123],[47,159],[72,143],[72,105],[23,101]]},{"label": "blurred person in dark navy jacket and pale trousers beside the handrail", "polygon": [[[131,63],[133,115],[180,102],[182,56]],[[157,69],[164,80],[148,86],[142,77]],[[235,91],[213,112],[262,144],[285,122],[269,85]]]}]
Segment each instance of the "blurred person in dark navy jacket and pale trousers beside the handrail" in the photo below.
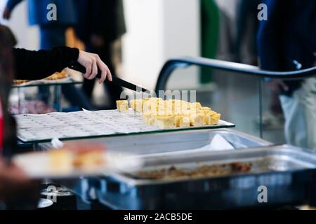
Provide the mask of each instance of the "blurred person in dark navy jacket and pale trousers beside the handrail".
[{"label": "blurred person in dark navy jacket and pale trousers beside the handrail", "polygon": [[[265,0],[268,20],[260,22],[261,69],[293,71],[315,66],[316,1]],[[316,78],[272,80],[279,90],[287,144],[316,150]]]}]

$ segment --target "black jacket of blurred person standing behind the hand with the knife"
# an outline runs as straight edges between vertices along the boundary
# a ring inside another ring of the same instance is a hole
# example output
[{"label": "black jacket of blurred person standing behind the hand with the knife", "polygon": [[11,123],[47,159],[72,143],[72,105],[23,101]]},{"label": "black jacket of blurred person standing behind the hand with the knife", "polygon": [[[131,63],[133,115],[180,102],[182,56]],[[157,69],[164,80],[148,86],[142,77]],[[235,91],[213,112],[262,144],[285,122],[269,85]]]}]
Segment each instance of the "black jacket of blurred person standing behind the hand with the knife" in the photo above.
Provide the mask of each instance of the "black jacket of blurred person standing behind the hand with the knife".
[{"label": "black jacket of blurred person standing behind the hand with the knife", "polygon": [[84,43],[98,34],[110,43],[126,32],[121,0],[77,0],[76,33]]}]

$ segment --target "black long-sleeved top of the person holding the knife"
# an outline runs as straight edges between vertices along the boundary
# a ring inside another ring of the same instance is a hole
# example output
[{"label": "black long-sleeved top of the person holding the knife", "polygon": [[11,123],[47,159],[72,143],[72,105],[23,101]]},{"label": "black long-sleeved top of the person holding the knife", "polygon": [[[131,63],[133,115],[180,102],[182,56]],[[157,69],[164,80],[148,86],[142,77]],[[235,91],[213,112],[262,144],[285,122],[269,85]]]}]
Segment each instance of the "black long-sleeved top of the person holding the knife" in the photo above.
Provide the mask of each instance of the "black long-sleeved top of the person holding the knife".
[{"label": "black long-sleeved top of the person holding the knife", "polygon": [[[8,114],[8,96],[12,79],[36,80],[61,71],[77,61],[77,48],[58,47],[52,50],[30,51],[10,47],[11,42],[0,25],[0,103],[4,113],[3,155],[10,158],[17,147],[15,120]],[[14,75],[15,74],[15,75]]]}]

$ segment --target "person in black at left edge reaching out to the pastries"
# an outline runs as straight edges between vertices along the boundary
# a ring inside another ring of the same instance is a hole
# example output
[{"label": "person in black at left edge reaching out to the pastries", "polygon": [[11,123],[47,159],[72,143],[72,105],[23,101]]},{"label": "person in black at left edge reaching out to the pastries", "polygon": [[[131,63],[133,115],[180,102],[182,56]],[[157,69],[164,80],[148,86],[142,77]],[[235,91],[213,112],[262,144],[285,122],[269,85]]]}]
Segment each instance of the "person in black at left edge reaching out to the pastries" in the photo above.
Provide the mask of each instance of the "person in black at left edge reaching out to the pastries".
[{"label": "person in black at left edge reaching out to the pastries", "polygon": [[[51,50],[31,51],[13,48],[11,31],[0,25],[0,202],[7,209],[36,209],[39,185],[27,179],[26,174],[10,159],[16,153],[16,124],[8,113],[8,96],[13,78],[41,79],[77,61],[86,68],[85,78],[93,79],[102,72],[99,83],[112,80],[107,66],[100,57],[76,48],[57,47]],[[6,158],[6,159],[4,159]]]}]

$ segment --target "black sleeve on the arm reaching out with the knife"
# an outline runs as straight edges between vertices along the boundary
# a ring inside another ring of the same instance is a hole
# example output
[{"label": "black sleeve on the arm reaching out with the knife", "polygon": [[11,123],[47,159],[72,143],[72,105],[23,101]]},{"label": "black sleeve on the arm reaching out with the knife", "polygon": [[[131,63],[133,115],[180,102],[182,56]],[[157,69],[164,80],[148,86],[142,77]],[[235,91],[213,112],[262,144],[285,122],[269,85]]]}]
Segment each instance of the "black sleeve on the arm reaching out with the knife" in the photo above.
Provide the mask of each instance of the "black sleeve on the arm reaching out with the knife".
[{"label": "black sleeve on the arm reaching out with the knife", "polygon": [[13,48],[15,79],[38,80],[62,71],[77,61],[77,48],[57,47],[52,50],[25,50]]}]

